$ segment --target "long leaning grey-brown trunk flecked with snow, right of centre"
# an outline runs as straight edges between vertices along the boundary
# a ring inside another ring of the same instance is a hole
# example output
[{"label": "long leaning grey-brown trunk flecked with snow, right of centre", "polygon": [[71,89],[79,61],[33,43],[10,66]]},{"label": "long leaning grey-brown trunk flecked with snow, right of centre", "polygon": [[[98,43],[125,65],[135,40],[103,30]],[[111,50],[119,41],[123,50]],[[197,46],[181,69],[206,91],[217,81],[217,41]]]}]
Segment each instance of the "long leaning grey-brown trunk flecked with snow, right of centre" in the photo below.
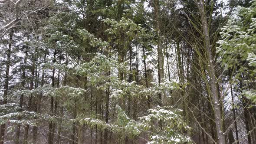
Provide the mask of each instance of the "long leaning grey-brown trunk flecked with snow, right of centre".
[{"label": "long leaning grey-brown trunk flecked with snow, right of centre", "polygon": [[222,108],[221,108],[222,100],[219,97],[220,93],[218,91],[218,82],[217,82],[215,70],[214,70],[214,63],[213,63],[214,58],[212,53],[212,46],[210,44],[207,16],[205,15],[206,10],[204,10],[204,0],[201,0],[201,2],[199,3],[199,8],[200,8],[201,21],[203,26],[203,36],[205,40],[205,50],[207,53],[208,73],[210,77],[211,96],[213,100],[212,104],[214,108],[214,118],[216,123],[217,139],[219,144],[226,144],[226,138],[223,132],[223,115],[222,115]]}]

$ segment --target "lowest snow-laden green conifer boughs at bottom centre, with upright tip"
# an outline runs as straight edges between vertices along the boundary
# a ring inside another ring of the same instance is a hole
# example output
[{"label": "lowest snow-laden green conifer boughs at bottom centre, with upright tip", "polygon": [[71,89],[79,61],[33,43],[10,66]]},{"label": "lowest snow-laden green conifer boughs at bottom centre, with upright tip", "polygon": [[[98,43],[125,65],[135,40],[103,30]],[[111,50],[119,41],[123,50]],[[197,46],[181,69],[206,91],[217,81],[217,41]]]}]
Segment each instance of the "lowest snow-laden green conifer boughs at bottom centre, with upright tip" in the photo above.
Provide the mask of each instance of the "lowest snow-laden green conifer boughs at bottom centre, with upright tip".
[{"label": "lowest snow-laden green conifer boughs at bottom centre, with upright tip", "polygon": [[[180,109],[157,107],[149,109],[149,115],[139,117],[138,121],[128,118],[119,105],[116,105],[117,119],[114,124],[106,124],[104,121],[94,118],[79,117],[77,120],[81,124],[90,127],[97,125],[97,128],[105,128],[121,134],[123,137],[139,135],[142,132],[150,131],[151,141],[147,144],[192,144],[189,137],[185,136],[183,131],[190,129],[183,121],[180,115]],[[169,109],[169,110],[168,110]]]}]

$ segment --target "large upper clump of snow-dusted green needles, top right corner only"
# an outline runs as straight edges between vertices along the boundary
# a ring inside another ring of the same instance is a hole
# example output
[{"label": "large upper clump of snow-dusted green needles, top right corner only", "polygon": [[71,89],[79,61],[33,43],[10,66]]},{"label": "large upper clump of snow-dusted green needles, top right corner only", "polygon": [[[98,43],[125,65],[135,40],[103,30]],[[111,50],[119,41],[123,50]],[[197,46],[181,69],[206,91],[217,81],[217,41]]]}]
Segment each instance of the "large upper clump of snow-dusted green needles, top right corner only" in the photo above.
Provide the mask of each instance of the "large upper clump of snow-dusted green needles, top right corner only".
[{"label": "large upper clump of snow-dusted green needles, top right corner only", "polygon": [[226,26],[221,29],[220,46],[217,52],[221,56],[223,64],[233,67],[240,60],[249,61],[249,66],[255,66],[256,52],[256,23],[253,17],[256,14],[256,0],[251,1],[249,8],[239,7]]}]

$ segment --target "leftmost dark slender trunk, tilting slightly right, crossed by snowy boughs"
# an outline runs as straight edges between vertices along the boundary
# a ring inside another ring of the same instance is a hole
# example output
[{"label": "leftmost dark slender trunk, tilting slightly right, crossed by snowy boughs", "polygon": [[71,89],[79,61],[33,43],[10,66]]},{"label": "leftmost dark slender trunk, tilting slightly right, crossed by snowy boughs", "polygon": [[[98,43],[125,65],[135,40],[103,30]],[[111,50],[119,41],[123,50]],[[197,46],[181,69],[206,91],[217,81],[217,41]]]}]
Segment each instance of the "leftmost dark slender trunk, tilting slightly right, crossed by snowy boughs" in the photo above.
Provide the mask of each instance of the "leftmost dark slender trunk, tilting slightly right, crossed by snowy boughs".
[{"label": "leftmost dark slender trunk, tilting slightly right, crossed by snowy boughs", "polygon": [[[5,77],[4,77],[5,81],[4,81],[4,90],[3,90],[3,105],[7,104],[12,40],[13,40],[13,33],[10,33],[9,46],[7,49],[6,70],[5,70]],[[3,141],[4,141],[4,131],[5,131],[5,124],[2,124],[0,126],[0,144],[3,144]]]}]

